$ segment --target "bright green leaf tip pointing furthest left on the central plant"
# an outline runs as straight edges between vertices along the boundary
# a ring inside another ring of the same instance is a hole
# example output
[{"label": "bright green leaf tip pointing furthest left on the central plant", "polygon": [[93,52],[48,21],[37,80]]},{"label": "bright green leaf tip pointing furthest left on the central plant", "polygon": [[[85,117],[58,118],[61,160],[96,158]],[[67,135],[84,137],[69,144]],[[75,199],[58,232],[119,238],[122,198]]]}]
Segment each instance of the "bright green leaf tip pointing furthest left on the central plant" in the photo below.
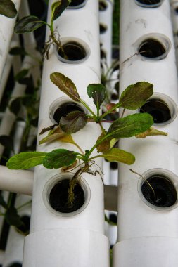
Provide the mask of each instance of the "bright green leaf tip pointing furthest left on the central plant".
[{"label": "bright green leaf tip pointing furthest left on the central plant", "polygon": [[47,154],[47,152],[39,151],[21,152],[8,159],[6,166],[8,169],[30,169],[43,164],[43,159]]}]

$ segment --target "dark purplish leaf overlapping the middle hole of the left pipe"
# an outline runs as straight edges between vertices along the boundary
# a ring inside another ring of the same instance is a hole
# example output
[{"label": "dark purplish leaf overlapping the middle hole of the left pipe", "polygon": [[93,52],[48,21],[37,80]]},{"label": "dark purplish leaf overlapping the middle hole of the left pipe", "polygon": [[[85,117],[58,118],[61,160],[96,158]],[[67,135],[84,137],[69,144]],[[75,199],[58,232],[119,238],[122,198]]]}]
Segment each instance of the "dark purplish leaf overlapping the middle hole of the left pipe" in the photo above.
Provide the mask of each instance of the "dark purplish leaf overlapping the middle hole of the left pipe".
[{"label": "dark purplish leaf overlapping the middle hole of the left pipe", "polygon": [[87,115],[84,112],[76,110],[70,112],[66,117],[61,117],[60,126],[65,133],[76,133],[87,124]]}]

